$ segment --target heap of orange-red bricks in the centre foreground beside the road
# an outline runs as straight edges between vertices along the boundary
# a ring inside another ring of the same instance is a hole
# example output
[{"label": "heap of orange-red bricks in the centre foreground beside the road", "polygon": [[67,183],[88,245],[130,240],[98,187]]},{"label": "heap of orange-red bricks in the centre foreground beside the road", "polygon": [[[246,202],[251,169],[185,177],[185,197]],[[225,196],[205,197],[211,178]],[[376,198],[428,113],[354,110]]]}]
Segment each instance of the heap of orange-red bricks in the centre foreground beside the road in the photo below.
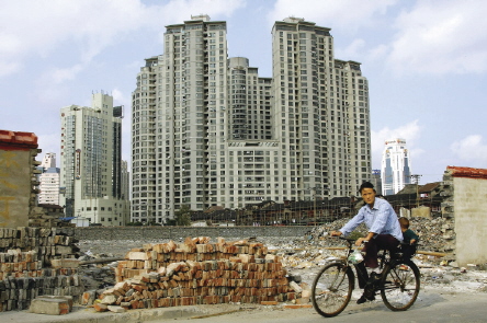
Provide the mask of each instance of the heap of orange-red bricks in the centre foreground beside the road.
[{"label": "heap of orange-red bricks in the centre foreground beside the road", "polygon": [[146,309],[229,302],[283,302],[298,298],[280,257],[262,243],[209,243],[188,238],[132,250],[115,270],[117,284],[94,303]]}]

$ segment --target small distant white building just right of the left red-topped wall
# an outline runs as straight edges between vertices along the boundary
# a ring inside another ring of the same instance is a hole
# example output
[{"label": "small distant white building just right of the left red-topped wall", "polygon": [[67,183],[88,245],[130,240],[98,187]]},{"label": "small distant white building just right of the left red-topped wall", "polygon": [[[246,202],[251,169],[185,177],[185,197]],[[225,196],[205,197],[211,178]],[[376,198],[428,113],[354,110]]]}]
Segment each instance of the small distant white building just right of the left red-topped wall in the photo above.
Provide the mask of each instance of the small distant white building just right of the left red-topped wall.
[{"label": "small distant white building just right of the left red-topped wall", "polygon": [[59,169],[56,168],[56,153],[48,152],[41,163],[38,175],[37,204],[59,205]]}]

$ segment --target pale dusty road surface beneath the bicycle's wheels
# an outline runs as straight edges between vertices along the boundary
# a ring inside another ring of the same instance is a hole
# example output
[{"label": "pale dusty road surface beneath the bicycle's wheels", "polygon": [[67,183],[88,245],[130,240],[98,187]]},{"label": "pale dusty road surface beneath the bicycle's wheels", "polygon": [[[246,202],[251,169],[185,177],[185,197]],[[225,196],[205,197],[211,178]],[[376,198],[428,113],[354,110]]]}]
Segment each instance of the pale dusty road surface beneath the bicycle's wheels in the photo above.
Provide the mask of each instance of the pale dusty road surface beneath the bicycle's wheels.
[{"label": "pale dusty road surface beneath the bicycle's wheels", "polygon": [[[405,312],[392,312],[382,300],[365,304],[350,302],[349,307],[333,322],[487,322],[485,304],[487,293],[439,293],[438,291],[422,292],[415,305]],[[218,316],[180,319],[178,323],[184,322],[212,322],[212,323],[248,323],[248,322],[279,322],[279,323],[316,323],[329,320],[320,316],[314,309],[282,310],[279,308],[259,308],[227,313]],[[148,322],[148,321],[146,321]],[[162,320],[150,321],[151,323],[167,322]]]}]

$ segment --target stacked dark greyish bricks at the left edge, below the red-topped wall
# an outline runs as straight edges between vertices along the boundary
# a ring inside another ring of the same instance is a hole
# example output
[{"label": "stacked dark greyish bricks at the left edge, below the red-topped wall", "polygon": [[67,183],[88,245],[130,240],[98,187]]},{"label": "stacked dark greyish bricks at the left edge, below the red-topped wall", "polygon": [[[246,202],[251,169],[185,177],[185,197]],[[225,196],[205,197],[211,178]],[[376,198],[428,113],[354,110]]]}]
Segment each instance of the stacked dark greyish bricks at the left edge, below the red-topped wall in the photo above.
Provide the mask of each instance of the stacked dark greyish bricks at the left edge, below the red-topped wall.
[{"label": "stacked dark greyish bricks at the left edge, below the red-topped wall", "polygon": [[82,295],[71,231],[0,228],[0,312],[27,309],[38,296]]}]

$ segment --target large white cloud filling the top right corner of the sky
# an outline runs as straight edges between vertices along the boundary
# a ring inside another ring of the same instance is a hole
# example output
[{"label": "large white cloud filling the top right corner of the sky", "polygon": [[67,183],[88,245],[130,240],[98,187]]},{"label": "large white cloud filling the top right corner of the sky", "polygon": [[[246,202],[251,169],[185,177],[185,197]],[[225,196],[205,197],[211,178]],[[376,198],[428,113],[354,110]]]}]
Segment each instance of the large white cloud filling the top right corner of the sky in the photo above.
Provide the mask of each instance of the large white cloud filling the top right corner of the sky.
[{"label": "large white cloud filling the top right corner of the sky", "polygon": [[417,1],[394,24],[388,68],[399,73],[487,71],[487,2]]}]

